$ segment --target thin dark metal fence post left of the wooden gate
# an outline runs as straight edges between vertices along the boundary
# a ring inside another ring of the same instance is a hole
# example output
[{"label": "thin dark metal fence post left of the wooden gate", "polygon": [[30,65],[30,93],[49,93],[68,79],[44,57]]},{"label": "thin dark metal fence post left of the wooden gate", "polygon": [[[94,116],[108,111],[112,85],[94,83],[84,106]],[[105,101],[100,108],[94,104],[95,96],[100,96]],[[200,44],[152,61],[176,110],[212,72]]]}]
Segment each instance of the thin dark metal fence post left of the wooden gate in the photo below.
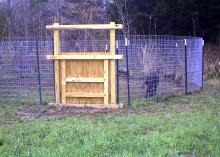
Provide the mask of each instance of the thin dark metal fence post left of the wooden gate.
[{"label": "thin dark metal fence post left of the wooden gate", "polygon": [[41,88],[41,77],[40,77],[40,59],[39,59],[39,45],[38,38],[35,37],[35,46],[36,46],[36,57],[37,57],[37,74],[38,74],[38,94],[40,99],[40,104],[42,104],[42,88]]}]

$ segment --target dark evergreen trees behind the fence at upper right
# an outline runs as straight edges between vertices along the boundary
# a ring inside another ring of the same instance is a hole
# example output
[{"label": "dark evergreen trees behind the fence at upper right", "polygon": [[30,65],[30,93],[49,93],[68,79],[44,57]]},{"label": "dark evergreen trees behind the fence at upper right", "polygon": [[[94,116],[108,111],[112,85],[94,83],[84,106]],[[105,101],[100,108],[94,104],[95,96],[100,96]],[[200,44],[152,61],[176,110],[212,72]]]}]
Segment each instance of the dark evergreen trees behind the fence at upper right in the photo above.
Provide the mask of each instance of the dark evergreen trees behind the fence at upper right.
[{"label": "dark evergreen trees behind the fence at upper right", "polygon": [[209,41],[220,34],[219,0],[114,0],[108,15],[129,33],[202,36]]}]

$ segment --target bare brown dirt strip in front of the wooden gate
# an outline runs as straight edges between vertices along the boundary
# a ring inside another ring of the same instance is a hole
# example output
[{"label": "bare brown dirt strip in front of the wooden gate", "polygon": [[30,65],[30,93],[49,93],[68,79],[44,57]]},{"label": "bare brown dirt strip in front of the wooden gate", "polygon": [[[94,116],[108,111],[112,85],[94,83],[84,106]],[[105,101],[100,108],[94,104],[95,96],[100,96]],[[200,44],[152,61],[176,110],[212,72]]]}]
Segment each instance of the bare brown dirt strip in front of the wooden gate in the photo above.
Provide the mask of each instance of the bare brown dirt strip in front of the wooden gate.
[{"label": "bare brown dirt strip in front of the wooden gate", "polygon": [[70,117],[70,116],[97,116],[97,115],[123,115],[132,116],[137,114],[144,114],[146,116],[154,114],[155,112],[165,112],[165,110],[155,109],[152,111],[148,108],[92,108],[92,107],[73,107],[73,106],[30,106],[20,112],[16,113],[16,117],[22,119],[35,119],[40,117],[55,118],[55,117]]}]

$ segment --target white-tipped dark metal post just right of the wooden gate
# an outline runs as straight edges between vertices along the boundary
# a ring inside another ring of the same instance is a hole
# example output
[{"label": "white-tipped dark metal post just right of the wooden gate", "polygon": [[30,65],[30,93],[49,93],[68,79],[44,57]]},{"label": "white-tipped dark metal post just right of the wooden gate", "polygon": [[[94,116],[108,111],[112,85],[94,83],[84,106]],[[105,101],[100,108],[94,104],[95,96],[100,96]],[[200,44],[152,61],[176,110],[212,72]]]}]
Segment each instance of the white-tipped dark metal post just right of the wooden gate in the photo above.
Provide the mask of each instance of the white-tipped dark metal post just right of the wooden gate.
[{"label": "white-tipped dark metal post just right of the wooden gate", "polygon": [[128,105],[131,106],[131,98],[130,98],[130,71],[128,65],[128,39],[125,37],[125,53],[126,53],[126,66],[127,66],[127,84],[128,84]]}]

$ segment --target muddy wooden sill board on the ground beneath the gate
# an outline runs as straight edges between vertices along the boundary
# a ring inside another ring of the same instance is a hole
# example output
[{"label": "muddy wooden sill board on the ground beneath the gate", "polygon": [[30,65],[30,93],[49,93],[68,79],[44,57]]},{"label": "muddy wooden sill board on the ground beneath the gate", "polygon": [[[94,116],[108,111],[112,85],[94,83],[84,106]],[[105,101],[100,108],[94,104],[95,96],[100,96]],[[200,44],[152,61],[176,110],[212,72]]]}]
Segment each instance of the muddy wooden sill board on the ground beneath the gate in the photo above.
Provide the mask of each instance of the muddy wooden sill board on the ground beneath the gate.
[{"label": "muddy wooden sill board on the ground beneath the gate", "polygon": [[96,108],[96,109],[122,109],[123,104],[70,104],[70,103],[50,103],[52,106],[72,106],[78,108]]}]

